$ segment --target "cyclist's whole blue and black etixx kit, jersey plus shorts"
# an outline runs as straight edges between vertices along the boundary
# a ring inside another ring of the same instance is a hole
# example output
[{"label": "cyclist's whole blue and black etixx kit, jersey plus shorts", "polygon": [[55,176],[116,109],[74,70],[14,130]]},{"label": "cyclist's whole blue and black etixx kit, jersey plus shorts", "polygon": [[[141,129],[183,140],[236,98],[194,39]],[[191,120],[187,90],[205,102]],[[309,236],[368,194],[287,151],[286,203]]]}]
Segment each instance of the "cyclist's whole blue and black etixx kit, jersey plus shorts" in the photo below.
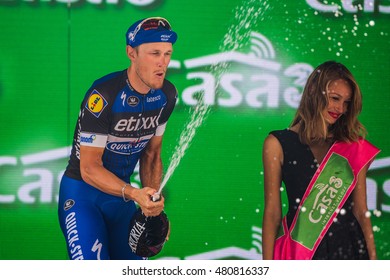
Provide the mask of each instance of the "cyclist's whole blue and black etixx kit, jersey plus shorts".
[{"label": "cyclist's whole blue and black etixx kit, jersey plus shorts", "polygon": [[134,201],[126,203],[82,180],[80,146],[104,148],[103,166],[129,182],[149,140],[163,135],[176,98],[168,80],[161,89],[136,92],[126,70],[95,81],[87,91],[60,184],[58,216],[70,259],[140,259],[128,246]]}]

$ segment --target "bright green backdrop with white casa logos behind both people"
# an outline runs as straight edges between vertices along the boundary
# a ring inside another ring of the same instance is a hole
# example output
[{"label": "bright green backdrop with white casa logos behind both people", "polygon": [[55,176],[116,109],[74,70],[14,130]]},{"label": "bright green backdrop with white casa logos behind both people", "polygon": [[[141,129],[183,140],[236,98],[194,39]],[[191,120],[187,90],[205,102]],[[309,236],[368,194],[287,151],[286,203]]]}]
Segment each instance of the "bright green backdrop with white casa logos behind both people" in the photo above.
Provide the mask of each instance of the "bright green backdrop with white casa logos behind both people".
[{"label": "bright green backdrop with white casa logos behind both people", "polygon": [[165,169],[196,128],[164,189],[172,229],[158,258],[261,258],[263,140],[333,59],[355,74],[360,120],[382,150],[367,193],[378,257],[390,259],[389,0],[0,0],[0,259],[67,259],[57,199],[79,103],[129,65],[125,32],[149,16],[179,35]]}]

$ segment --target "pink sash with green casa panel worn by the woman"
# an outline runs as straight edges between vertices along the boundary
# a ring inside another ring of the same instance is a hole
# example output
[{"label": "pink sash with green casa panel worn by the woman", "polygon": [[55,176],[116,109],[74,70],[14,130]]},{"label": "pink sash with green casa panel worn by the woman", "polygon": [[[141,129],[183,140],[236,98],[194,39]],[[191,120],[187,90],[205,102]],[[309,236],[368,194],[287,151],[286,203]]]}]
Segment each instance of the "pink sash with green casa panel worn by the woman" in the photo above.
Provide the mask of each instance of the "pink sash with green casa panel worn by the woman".
[{"label": "pink sash with green casa panel worn by the woman", "polygon": [[354,189],[359,172],[379,149],[366,140],[336,142],[310,181],[290,229],[282,219],[275,260],[310,260],[334,218]]}]

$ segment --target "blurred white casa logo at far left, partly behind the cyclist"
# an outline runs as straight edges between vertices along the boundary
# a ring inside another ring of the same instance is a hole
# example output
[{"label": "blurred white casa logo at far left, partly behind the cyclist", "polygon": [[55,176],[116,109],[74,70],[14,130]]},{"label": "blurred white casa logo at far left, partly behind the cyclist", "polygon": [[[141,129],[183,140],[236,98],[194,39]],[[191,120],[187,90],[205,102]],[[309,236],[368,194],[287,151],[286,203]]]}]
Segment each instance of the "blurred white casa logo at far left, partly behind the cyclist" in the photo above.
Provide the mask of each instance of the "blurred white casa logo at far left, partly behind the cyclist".
[{"label": "blurred white casa logo at far left, partly behind the cyclist", "polygon": [[[56,205],[70,151],[69,146],[20,157],[0,156],[0,207],[11,204]],[[139,188],[138,168],[137,165],[132,185]]]}]

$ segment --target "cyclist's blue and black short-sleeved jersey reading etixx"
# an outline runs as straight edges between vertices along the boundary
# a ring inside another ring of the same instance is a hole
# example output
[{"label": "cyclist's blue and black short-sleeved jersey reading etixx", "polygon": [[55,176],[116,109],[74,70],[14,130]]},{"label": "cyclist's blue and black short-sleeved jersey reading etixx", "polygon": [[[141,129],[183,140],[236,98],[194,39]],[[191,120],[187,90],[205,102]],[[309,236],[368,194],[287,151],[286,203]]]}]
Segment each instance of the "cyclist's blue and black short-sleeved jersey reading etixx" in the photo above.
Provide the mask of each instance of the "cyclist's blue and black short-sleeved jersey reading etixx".
[{"label": "cyclist's blue and black short-sleeved jersey reading etixx", "polygon": [[168,80],[161,89],[139,94],[126,70],[95,81],[81,104],[65,175],[81,180],[80,145],[104,147],[104,167],[128,182],[150,138],[164,133],[176,99]]}]

